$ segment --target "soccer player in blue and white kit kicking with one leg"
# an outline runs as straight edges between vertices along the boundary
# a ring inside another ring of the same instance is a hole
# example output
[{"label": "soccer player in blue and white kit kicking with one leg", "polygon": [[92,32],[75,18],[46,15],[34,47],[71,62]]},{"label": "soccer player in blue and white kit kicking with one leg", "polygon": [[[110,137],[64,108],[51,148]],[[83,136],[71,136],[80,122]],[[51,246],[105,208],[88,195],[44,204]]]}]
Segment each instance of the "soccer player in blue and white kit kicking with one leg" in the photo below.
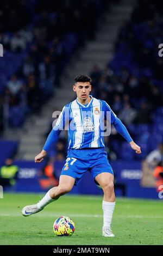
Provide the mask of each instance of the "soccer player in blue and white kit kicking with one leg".
[{"label": "soccer player in blue and white kit kicking with one leg", "polygon": [[[99,184],[104,192],[102,235],[110,237],[114,236],[110,226],[115,208],[115,193],[114,174],[104,151],[104,120],[110,119],[110,123],[137,154],[141,153],[141,149],[131,139],[126,127],[112,112],[108,103],[90,95],[91,78],[87,75],[79,75],[74,80],[73,91],[77,93],[77,99],[64,106],[41,153],[35,157],[36,163],[43,161],[49,147],[57,142],[61,130],[68,123],[67,160],[61,170],[59,185],[51,188],[39,203],[25,206],[22,215],[35,214],[49,203],[58,200],[63,194],[70,192],[89,170],[96,184]],[[110,118],[107,118],[108,116]]]}]

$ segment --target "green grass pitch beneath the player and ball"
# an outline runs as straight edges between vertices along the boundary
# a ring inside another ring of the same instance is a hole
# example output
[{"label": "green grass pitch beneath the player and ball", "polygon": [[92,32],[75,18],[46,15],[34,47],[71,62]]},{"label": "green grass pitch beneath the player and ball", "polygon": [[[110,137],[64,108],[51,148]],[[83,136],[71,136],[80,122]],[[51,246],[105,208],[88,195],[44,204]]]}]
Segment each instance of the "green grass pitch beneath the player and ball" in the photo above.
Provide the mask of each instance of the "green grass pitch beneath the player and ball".
[{"label": "green grass pitch beneath the player and ball", "polygon": [[[41,194],[42,196],[42,194]],[[63,196],[38,214],[23,217],[21,209],[39,194],[9,194],[0,199],[0,245],[162,245],[162,200],[117,198],[112,231],[102,236],[102,197]],[[55,236],[53,223],[68,216],[76,230]]]}]

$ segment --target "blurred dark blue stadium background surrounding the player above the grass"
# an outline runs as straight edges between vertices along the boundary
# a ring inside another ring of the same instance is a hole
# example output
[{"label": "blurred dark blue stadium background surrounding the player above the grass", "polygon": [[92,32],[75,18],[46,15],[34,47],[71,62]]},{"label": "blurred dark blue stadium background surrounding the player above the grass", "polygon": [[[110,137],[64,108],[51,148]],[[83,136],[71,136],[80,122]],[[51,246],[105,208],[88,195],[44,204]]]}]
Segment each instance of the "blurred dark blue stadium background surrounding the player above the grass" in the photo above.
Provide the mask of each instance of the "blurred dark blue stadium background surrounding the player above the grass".
[{"label": "blurred dark blue stadium background surrounding the player above the grass", "polygon": [[[160,1],[5,1],[0,11],[0,165],[19,167],[8,191],[47,191],[58,184],[66,135],[35,164],[52,113],[72,101],[73,77],[92,78],[92,95],[109,103],[142,149],[105,137],[117,196],[158,198],[146,157],[163,143],[163,9]],[[47,113],[51,115],[47,118]],[[161,152],[163,156],[163,152]],[[87,173],[71,193],[101,194]]]}]

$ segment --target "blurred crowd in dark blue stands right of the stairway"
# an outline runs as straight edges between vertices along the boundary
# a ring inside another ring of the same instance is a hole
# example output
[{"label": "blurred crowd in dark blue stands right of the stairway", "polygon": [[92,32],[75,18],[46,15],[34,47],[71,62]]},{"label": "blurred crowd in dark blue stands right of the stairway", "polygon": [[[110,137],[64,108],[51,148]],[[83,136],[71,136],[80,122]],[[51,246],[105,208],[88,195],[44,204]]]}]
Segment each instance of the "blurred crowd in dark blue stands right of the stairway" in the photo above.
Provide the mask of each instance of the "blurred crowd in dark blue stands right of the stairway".
[{"label": "blurred crowd in dark blue stands right of the stairway", "polygon": [[144,159],[163,141],[162,13],[160,1],[138,1],[118,34],[114,58],[104,70],[94,66],[91,72],[95,96],[109,103],[142,148],[134,156],[113,130],[109,147],[121,159]]}]

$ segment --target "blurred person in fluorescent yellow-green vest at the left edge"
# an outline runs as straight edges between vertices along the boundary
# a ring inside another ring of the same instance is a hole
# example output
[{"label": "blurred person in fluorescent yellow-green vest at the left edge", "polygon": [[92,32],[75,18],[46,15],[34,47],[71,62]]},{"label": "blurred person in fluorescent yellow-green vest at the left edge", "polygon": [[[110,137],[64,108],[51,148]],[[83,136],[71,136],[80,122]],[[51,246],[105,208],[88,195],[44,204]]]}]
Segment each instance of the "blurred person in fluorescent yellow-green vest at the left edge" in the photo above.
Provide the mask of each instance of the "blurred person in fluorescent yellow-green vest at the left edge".
[{"label": "blurred person in fluorescent yellow-green vest at the left edge", "polygon": [[15,185],[17,174],[18,167],[13,164],[12,159],[7,159],[5,165],[0,169],[0,184],[3,187]]}]

